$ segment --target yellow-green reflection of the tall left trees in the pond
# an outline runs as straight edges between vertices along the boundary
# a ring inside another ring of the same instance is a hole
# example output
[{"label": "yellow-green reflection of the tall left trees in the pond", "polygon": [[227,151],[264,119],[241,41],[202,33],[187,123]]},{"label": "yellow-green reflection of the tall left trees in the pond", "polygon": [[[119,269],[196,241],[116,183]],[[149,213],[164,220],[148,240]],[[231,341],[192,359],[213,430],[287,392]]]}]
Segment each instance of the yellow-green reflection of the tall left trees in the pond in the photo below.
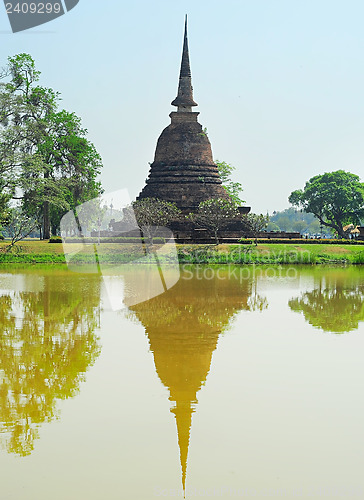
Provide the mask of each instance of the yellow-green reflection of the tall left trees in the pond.
[{"label": "yellow-green reflection of the tall left trees in the pond", "polygon": [[[100,353],[98,277],[44,275],[36,292],[0,296],[0,432],[8,452],[29,455],[58,399],[73,397]],[[87,291],[87,293],[86,293]]]}]

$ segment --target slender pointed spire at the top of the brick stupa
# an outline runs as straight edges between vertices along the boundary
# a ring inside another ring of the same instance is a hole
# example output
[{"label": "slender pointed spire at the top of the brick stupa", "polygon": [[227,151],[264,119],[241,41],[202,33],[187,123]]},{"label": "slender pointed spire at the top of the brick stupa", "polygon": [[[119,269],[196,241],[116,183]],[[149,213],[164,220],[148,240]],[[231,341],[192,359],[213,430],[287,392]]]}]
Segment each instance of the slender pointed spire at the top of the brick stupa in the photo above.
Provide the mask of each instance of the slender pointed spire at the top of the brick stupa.
[{"label": "slender pointed spire at the top of the brick stupa", "polygon": [[181,70],[179,74],[178,94],[172,106],[177,106],[178,111],[182,113],[191,112],[192,106],[197,106],[193,100],[193,88],[191,80],[190,56],[188,51],[188,36],[187,36],[187,14],[185,19],[185,35],[183,40]]}]

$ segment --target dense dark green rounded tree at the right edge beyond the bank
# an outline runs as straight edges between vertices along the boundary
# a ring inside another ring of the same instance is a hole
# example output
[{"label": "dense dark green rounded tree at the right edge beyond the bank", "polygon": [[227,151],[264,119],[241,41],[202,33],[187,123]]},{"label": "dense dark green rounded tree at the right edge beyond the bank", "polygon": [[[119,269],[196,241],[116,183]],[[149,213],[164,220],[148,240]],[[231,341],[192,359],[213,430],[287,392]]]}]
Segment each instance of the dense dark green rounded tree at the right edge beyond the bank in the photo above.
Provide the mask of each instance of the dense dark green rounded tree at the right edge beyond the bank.
[{"label": "dense dark green rounded tree at the right edge beyond the bank", "polygon": [[360,224],[364,217],[364,184],[357,175],[344,170],[312,177],[288,200],[314,214],[321,225],[334,229],[341,238],[347,238],[343,226]]}]

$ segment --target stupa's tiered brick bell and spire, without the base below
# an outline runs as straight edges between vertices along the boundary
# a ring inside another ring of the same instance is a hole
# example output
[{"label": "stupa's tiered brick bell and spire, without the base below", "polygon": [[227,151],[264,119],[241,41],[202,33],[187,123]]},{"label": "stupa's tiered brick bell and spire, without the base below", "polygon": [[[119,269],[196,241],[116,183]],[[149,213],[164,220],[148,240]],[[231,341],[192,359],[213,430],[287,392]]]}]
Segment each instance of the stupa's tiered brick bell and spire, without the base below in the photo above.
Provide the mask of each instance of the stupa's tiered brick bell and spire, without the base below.
[{"label": "stupa's tiered brick bell and spire, without the base below", "polygon": [[171,103],[171,124],[160,135],[146,186],[138,196],[175,203],[183,213],[195,211],[202,201],[229,199],[212,159],[211,144],[198,123],[193,99],[187,39],[187,16],[178,95]]}]

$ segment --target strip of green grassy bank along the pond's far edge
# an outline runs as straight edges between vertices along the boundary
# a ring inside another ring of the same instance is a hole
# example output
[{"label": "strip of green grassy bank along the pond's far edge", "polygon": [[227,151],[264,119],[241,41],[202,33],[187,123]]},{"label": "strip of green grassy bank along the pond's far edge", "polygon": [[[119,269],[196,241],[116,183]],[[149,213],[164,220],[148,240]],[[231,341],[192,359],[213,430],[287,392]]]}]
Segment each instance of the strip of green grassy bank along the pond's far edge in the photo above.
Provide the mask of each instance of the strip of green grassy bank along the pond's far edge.
[{"label": "strip of green grassy bank along the pond's far edge", "polygon": [[[0,242],[0,264],[62,264],[66,262],[62,244],[44,241],[22,241],[12,251],[6,252],[7,242]],[[160,259],[173,261],[174,247],[161,249]],[[67,246],[72,261],[93,263],[95,252],[100,263],[127,263],[144,258],[140,245],[106,243],[87,248],[77,243]],[[315,244],[270,243],[255,245],[177,245],[180,263],[199,264],[364,264],[364,244]]]}]

